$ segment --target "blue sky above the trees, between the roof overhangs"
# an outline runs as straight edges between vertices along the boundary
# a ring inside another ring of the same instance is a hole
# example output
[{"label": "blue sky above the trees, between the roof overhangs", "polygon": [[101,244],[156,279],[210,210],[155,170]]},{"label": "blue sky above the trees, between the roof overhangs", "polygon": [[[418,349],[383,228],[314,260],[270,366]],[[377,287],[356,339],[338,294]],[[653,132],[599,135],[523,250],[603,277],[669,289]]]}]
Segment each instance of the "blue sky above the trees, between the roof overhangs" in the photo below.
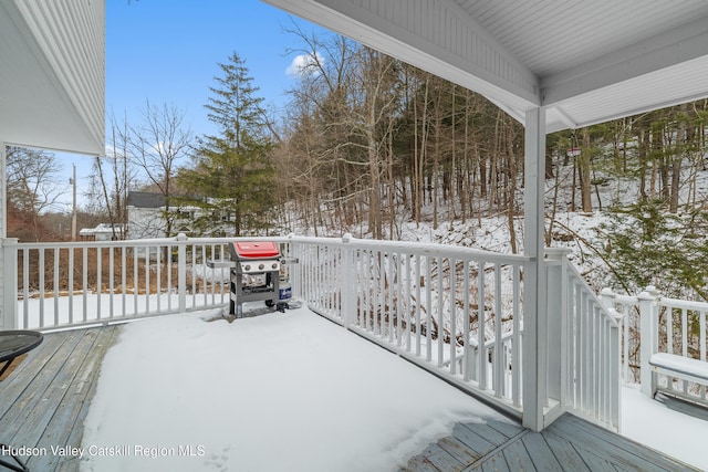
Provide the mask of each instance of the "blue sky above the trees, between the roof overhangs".
[{"label": "blue sky above the trees, between the roof overhangs", "polygon": [[[221,75],[218,63],[237,52],[246,61],[252,84],[267,107],[282,109],[293,78],[288,67],[298,55],[288,54],[302,42],[284,29],[293,21],[305,32],[324,32],[259,0],[107,0],[106,115],[138,125],[146,99],[174,105],[185,114],[195,135],[215,133],[206,117],[209,87]],[[107,122],[107,120],[106,120]],[[106,139],[110,140],[110,123]],[[88,186],[91,158],[59,155],[69,182],[76,164],[79,192]],[[71,211],[71,189],[58,211]],[[82,198],[79,198],[82,206]]]}]

